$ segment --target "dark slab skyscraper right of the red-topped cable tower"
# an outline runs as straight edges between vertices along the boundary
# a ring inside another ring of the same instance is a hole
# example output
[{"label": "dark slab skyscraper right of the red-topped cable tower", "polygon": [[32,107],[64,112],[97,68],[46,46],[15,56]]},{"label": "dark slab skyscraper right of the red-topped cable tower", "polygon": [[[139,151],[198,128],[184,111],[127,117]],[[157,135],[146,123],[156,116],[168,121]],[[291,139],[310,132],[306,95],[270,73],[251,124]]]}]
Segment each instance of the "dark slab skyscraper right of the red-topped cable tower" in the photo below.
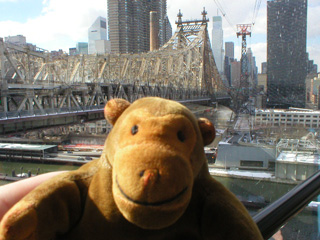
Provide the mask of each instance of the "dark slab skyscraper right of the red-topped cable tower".
[{"label": "dark slab skyscraper right of the red-topped cable tower", "polygon": [[267,107],[304,107],[307,0],[268,0],[267,5]]}]

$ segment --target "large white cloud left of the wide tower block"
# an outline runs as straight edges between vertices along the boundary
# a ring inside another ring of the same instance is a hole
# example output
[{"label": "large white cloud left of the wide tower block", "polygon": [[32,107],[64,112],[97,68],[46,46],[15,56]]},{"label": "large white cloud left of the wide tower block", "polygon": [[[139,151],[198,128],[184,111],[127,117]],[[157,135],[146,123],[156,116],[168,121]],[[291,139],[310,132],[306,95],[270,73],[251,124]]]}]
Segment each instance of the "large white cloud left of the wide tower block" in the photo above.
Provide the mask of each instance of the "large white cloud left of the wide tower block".
[{"label": "large white cloud left of the wide tower block", "polygon": [[40,16],[25,23],[0,22],[3,36],[22,34],[27,41],[48,50],[68,50],[87,41],[88,28],[99,16],[106,17],[105,0],[45,0]]}]

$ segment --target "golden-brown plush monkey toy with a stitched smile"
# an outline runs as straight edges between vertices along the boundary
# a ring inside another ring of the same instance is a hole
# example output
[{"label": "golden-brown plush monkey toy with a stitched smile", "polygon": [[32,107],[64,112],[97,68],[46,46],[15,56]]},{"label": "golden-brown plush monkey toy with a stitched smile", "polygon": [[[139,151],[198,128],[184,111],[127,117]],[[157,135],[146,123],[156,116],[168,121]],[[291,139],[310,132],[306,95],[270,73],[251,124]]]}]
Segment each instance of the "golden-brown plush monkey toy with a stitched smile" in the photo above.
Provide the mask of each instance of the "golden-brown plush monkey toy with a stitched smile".
[{"label": "golden-brown plush monkey toy with a stitched smile", "polygon": [[213,124],[148,97],[108,101],[100,159],[39,185],[0,224],[0,240],[259,240],[242,203],[210,176]]}]

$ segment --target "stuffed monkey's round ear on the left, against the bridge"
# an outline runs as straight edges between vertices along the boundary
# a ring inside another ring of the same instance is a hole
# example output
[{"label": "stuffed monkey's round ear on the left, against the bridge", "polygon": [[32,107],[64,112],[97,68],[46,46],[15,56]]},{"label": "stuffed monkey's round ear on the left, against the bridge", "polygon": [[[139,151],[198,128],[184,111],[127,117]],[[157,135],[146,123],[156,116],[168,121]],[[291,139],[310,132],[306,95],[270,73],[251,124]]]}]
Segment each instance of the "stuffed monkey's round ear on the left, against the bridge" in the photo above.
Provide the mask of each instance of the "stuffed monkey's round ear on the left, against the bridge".
[{"label": "stuffed monkey's round ear on the left, against the bridge", "polygon": [[121,98],[111,99],[104,107],[104,117],[106,120],[114,125],[120,115],[130,106],[127,100]]}]

